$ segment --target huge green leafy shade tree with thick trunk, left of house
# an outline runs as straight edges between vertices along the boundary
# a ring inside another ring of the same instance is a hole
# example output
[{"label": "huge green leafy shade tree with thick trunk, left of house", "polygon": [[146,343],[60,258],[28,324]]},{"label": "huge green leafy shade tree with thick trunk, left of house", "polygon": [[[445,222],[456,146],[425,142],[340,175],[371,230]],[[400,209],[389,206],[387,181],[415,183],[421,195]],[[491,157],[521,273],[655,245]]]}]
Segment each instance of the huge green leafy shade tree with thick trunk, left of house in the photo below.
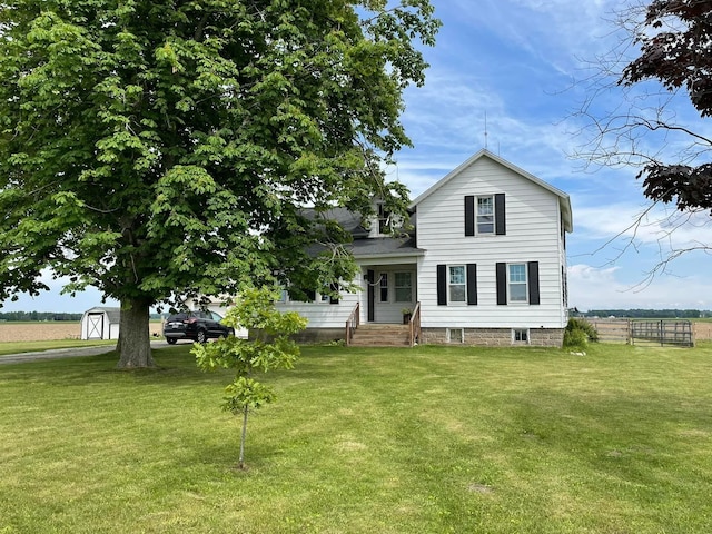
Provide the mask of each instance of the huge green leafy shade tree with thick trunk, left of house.
[{"label": "huge green leafy shade tree with thick trunk, left of house", "polygon": [[438,26],[428,0],[3,1],[0,301],[98,287],[131,368],[150,306],[350,279],[329,208],[404,211],[380,169]]}]

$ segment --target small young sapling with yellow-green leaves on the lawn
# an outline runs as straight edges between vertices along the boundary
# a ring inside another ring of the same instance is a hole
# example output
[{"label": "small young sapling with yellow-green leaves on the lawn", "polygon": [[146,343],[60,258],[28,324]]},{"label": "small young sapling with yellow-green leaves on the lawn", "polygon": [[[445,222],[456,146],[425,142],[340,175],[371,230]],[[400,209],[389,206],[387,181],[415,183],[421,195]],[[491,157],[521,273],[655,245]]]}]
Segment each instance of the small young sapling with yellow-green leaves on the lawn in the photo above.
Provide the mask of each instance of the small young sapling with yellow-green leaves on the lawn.
[{"label": "small young sapling with yellow-green leaves on the lawn", "polygon": [[224,409],[243,415],[239,466],[244,467],[247,414],[275,400],[268,386],[253,378],[255,373],[291,369],[299,356],[299,347],[289,336],[307,326],[295,312],[280,313],[275,308],[278,291],[271,287],[245,288],[238,304],[230,308],[222,323],[236,330],[247,328],[251,339],[234,336],[208,345],[195,344],[192,354],[202,370],[235,369],[235,379],[225,388]]}]

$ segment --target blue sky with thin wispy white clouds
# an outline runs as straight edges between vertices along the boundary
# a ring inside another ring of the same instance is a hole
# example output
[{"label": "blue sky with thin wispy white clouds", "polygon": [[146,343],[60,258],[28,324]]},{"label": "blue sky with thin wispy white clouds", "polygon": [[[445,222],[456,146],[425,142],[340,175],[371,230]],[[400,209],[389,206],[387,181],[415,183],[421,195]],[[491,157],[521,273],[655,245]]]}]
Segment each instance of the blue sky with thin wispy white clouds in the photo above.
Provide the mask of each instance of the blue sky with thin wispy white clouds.
[{"label": "blue sky with thin wispy white clouds", "polygon": [[[589,166],[572,158],[585,142],[581,109],[590,62],[619,43],[611,0],[433,0],[443,27],[434,48],[424,49],[431,68],[422,88],[406,91],[403,120],[414,148],[387,169],[416,198],[436,180],[485,147],[567,192],[574,233],[568,236],[570,304],[578,309],[712,309],[712,257],[680,257],[668,274],[641,284],[670,247],[712,244],[704,215],[670,233],[655,210],[633,245],[626,231],[649,201],[636,169]],[[649,86],[650,87],[650,86]],[[612,89],[592,108],[600,117],[621,102]],[[696,131],[701,121],[685,98],[673,102],[680,120]],[[486,117],[486,139],[485,139]],[[668,150],[651,136],[653,148]],[[674,140],[668,139],[668,144]],[[660,147],[655,144],[660,144]],[[672,212],[672,210],[670,211]],[[616,236],[622,237],[616,238]],[[100,304],[98,291],[60,297],[61,283],[41,297],[21,297],[0,310],[83,312]]]}]

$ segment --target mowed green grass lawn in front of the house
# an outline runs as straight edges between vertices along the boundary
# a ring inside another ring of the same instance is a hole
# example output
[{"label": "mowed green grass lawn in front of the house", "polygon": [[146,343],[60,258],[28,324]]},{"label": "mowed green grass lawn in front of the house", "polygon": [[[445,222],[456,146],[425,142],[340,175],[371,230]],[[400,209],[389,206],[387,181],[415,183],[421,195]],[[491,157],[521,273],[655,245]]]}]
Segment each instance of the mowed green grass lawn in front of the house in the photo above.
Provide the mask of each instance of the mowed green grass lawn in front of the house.
[{"label": "mowed green grass lawn in front of the house", "polygon": [[0,533],[712,532],[712,345],[305,347],[246,472],[189,349],[0,366]]}]

